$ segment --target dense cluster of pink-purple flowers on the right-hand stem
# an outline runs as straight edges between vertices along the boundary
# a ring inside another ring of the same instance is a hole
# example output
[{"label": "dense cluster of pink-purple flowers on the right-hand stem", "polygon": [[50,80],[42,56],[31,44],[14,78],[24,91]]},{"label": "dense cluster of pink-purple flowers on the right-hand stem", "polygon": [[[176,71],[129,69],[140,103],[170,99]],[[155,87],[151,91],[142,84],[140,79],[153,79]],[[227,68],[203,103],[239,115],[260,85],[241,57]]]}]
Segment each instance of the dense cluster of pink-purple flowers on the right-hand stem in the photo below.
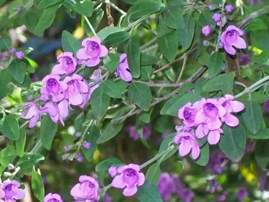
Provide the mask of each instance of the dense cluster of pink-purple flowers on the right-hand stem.
[{"label": "dense cluster of pink-purple flowers on the right-hand stem", "polygon": [[[179,147],[179,154],[185,156],[192,152],[193,159],[197,159],[200,148],[195,137],[207,136],[209,144],[217,144],[223,130],[221,126],[226,123],[230,127],[239,124],[233,113],[241,112],[244,104],[234,100],[233,95],[225,95],[219,99],[209,98],[195,102],[188,102],[179,109],[179,119],[183,119],[183,126],[177,126],[177,135],[174,142]],[[194,128],[196,128],[194,132]]]}]

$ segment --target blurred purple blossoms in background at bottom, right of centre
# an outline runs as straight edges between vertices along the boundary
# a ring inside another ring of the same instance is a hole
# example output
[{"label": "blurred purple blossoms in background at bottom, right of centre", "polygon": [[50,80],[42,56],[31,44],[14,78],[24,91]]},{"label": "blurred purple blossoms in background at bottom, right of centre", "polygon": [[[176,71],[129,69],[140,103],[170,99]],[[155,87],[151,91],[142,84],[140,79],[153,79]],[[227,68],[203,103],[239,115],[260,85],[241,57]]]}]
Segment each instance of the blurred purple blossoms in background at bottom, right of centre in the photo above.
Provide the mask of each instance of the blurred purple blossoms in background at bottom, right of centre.
[{"label": "blurred purple blossoms in background at bottom, right of centre", "polygon": [[185,202],[190,202],[194,197],[193,191],[188,188],[184,188],[183,184],[179,180],[179,176],[175,174],[170,176],[168,173],[161,173],[157,187],[163,201],[170,201],[172,195],[177,195]]}]

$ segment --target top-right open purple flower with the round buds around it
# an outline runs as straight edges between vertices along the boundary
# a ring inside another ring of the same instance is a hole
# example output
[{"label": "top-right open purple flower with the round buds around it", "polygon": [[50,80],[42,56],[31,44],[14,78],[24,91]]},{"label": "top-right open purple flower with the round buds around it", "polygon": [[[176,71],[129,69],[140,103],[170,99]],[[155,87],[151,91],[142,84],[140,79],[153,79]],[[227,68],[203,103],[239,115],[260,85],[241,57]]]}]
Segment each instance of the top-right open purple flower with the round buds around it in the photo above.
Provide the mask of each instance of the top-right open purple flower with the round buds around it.
[{"label": "top-right open purple flower with the round buds around it", "polygon": [[[213,7],[209,7],[209,10],[212,10]],[[233,6],[228,4],[225,6],[224,11],[226,13],[232,13],[233,12]],[[225,13],[214,13],[212,16],[213,20],[216,22],[216,25],[219,27],[224,27],[227,22],[227,18]],[[221,28],[219,28],[221,29]],[[211,25],[205,25],[202,27],[202,34],[205,36],[209,36],[211,32],[213,31],[213,27]],[[247,48],[247,44],[240,36],[244,35],[244,32],[235,27],[234,25],[230,25],[226,28],[226,30],[221,34],[220,41],[217,41],[218,46],[220,48],[223,48],[226,50],[227,53],[230,55],[235,55],[236,50],[235,48]],[[204,41],[203,42],[205,46],[208,46],[209,42]],[[235,48],[234,48],[235,47]]]}]

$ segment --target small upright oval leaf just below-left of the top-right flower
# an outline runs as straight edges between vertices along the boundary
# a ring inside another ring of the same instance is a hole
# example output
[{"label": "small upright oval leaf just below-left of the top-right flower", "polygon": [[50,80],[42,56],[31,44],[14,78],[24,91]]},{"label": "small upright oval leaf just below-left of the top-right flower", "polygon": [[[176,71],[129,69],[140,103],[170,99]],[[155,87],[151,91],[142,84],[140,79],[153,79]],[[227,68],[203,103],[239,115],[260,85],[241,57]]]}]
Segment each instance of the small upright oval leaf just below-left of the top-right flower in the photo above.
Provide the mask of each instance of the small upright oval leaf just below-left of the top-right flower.
[{"label": "small upright oval leaf just below-left of the top-right flower", "polygon": [[214,77],[219,74],[219,70],[221,70],[221,66],[223,65],[223,55],[219,52],[214,53],[210,56],[208,72],[209,76]]}]

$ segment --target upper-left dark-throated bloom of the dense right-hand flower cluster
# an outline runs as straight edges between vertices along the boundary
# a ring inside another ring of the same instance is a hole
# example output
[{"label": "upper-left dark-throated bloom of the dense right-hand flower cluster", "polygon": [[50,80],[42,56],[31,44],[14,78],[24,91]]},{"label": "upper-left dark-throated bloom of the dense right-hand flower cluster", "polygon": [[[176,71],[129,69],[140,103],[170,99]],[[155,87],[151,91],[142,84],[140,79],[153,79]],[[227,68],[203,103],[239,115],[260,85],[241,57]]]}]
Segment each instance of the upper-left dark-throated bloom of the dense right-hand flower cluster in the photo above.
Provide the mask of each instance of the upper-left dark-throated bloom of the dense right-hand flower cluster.
[{"label": "upper-left dark-throated bloom of the dense right-hand flower cluster", "polygon": [[195,116],[198,112],[199,102],[195,102],[193,106],[191,106],[191,102],[188,102],[184,107],[179,109],[179,119],[183,119],[183,123],[188,127],[195,126]]}]

